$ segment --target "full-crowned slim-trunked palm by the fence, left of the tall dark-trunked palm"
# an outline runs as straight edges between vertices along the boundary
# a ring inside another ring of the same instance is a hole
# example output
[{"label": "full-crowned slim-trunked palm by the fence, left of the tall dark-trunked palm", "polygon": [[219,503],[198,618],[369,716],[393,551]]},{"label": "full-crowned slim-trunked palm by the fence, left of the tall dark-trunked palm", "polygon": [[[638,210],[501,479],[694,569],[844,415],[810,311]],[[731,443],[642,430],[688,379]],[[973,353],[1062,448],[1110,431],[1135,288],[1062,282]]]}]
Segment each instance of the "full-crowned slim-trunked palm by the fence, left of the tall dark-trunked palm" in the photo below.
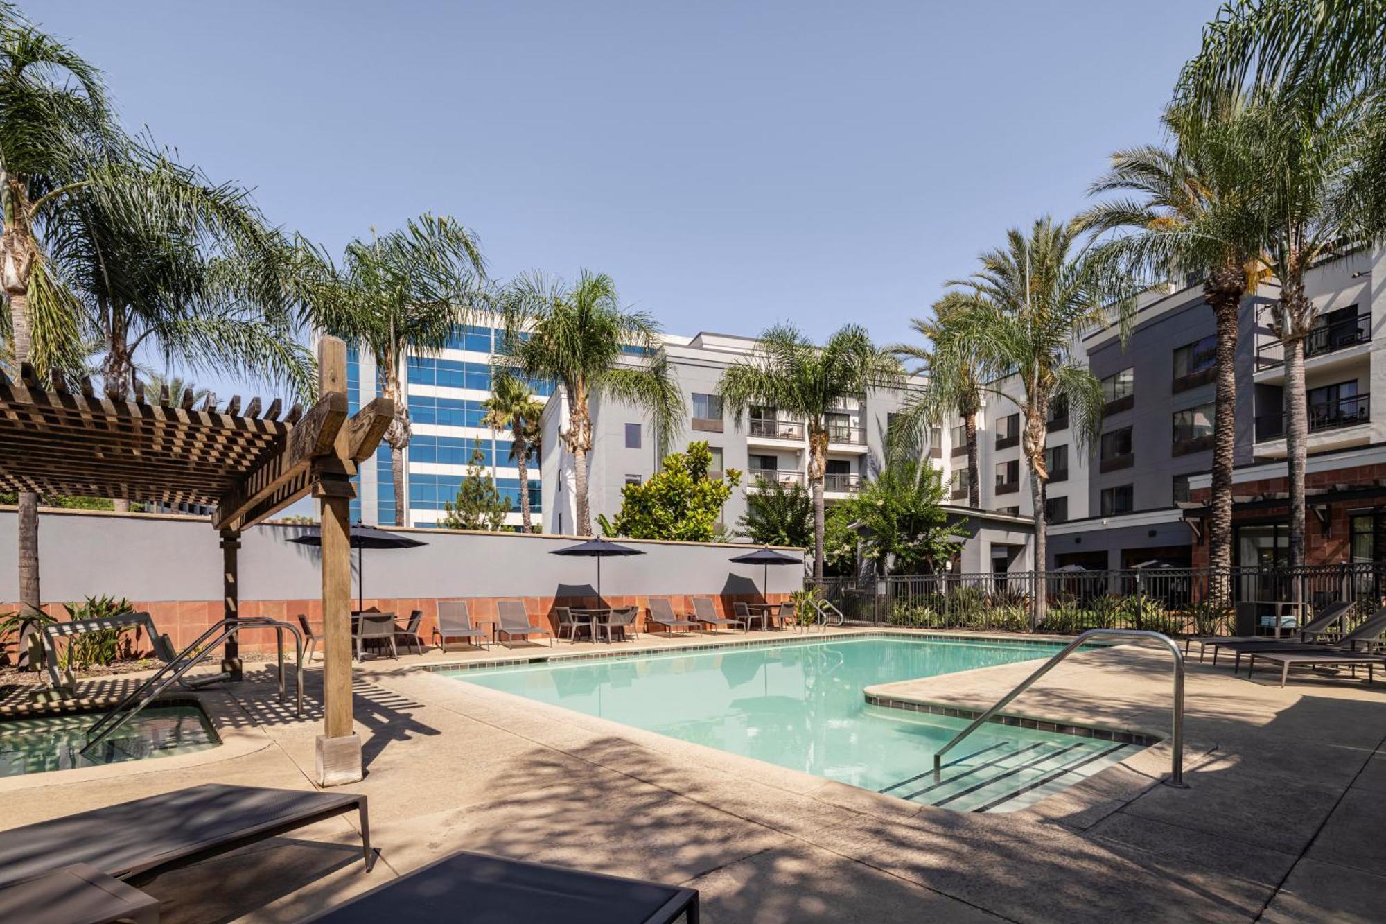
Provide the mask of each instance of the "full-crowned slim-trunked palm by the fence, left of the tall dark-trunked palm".
[{"label": "full-crowned slim-trunked palm by the fence, left of the tall dark-trunked palm", "polygon": [[[1046,562],[1044,498],[1049,473],[1044,455],[1046,416],[1056,398],[1069,407],[1074,441],[1087,450],[1102,431],[1102,383],[1074,357],[1080,336],[1105,327],[1113,314],[1125,341],[1135,312],[1131,282],[1112,261],[1078,251],[1080,229],[1044,216],[1028,234],[1006,233],[1006,246],[981,255],[981,269],[954,290],[948,336],[936,344],[937,362],[955,368],[954,351],[974,350],[981,391],[1017,404],[1024,416],[1021,451],[1030,469],[1035,569]],[[1002,386],[1019,384],[1015,398]],[[1044,617],[1044,592],[1034,617]]]}]

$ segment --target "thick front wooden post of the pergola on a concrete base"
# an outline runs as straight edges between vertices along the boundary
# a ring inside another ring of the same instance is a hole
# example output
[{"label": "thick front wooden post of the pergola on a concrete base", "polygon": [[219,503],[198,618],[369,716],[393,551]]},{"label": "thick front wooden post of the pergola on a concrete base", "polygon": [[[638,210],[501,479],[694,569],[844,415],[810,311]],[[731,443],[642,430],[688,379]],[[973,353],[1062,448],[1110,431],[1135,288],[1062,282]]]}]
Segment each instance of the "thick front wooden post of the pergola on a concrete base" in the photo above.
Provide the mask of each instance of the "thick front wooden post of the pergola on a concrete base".
[{"label": "thick front wooden post of the pergola on a concrete base", "polygon": [[[319,397],[346,391],[346,344],[317,344]],[[334,452],[313,462],[313,497],[323,538],[323,734],[317,738],[317,785],[362,778],[360,737],[352,726],[351,692],[351,476],[349,434],[341,429]]]}]

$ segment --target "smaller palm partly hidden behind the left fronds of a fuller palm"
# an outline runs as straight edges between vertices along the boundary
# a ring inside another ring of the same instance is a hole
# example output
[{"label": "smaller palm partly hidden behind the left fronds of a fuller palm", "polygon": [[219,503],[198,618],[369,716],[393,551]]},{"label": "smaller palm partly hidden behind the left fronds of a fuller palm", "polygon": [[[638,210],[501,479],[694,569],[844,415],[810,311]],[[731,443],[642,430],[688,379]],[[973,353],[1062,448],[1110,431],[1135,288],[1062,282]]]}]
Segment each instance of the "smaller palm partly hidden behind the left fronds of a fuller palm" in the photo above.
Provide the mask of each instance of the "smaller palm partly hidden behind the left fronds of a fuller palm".
[{"label": "smaller palm partly hidden behind the left fronds of a fuller palm", "polygon": [[942,351],[955,363],[955,368],[944,368],[938,363],[938,350],[934,344],[949,337],[947,315],[954,307],[955,298],[945,296],[934,302],[933,318],[913,318],[909,326],[920,334],[927,344],[898,344],[891,347],[902,362],[918,362],[912,375],[929,377],[924,390],[912,394],[891,426],[890,454],[893,462],[918,459],[923,450],[923,434],[926,427],[942,426],[951,418],[960,418],[963,433],[967,440],[967,506],[980,508],[977,476],[977,412],[981,411],[981,390],[977,383],[977,354],[967,350],[966,344],[952,344]]}]

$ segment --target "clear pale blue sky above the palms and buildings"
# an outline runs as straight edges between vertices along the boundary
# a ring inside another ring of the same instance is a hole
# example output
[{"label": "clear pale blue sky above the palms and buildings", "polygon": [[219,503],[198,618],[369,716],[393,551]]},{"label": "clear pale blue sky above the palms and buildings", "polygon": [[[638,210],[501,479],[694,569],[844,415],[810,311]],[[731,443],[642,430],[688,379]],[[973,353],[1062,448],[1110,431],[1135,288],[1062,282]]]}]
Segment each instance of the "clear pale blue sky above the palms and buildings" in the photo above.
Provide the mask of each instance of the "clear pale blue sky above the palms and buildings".
[{"label": "clear pale blue sky above the palms and buildings", "polygon": [[[334,254],[423,211],[667,330],[880,341],[1155,140],[1216,0],[21,0],[132,128]],[[220,390],[220,388],[219,388]]]}]

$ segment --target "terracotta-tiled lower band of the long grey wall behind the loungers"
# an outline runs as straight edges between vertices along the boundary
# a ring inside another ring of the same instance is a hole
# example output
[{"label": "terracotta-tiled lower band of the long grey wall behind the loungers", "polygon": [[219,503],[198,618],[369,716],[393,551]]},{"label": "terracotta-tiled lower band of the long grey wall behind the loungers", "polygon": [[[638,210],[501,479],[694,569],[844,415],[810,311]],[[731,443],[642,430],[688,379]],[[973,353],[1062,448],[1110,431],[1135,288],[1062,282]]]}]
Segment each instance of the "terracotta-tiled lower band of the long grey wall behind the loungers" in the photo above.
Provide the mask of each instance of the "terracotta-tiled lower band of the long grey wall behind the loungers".
[{"label": "terracotta-tiled lower band of the long grey wall behind the loungers", "polygon": [[[687,594],[671,594],[665,599],[674,608],[675,613],[692,613],[693,612],[693,597]],[[699,594],[701,597],[701,594]],[[787,594],[769,594],[768,598],[761,595],[711,595],[717,605],[717,610],[721,616],[730,616],[733,612],[733,604],[762,604],[771,602],[778,604],[789,599]],[[439,599],[466,599],[467,608],[471,612],[471,620],[478,628],[489,628],[482,623],[495,623],[496,619],[496,602],[502,599],[520,599],[525,605],[525,612],[529,613],[529,623],[532,626],[547,626],[549,631],[557,631],[557,616],[554,615],[556,606],[597,606],[599,601],[595,597],[586,598],[563,598],[557,599],[554,597],[446,597],[446,598],[373,598],[367,597],[365,604],[366,609],[378,609],[381,612],[394,612],[398,617],[399,626],[403,627],[409,623],[409,615],[419,609],[423,610],[424,622],[421,634],[424,641],[432,640],[434,628],[438,624],[438,601]],[[614,594],[604,594],[603,601],[606,606],[620,608],[620,606],[639,606],[640,613],[636,617],[636,630],[647,631],[646,622],[649,616],[650,597],[621,597]],[[355,602],[355,601],[353,601]],[[173,641],[173,647],[182,651],[184,647],[190,645],[198,635],[201,635],[209,626],[220,622],[222,619],[222,601],[132,601],[132,606],[136,612],[147,612],[154,620],[155,628],[161,633],[166,633]],[[8,612],[11,609],[18,609],[15,605],[0,605],[0,612]],[[44,604],[44,612],[57,619],[65,619],[67,610],[61,604]],[[308,616],[308,622],[313,624],[313,631],[322,631],[323,622],[323,604],[320,599],[243,599],[241,601],[241,616],[249,617],[263,617],[263,619],[277,619],[287,623],[298,626],[298,615],[302,613]],[[664,631],[656,627],[657,631]],[[676,630],[682,631],[682,630]],[[247,628],[240,634],[241,651],[247,652],[266,652],[272,653],[274,651],[274,630],[272,628]],[[538,641],[538,637],[535,638]],[[148,653],[150,644],[143,634],[134,640],[136,651],[139,653]],[[284,638],[286,651],[292,656],[291,637]],[[453,645],[453,642],[449,642]]]}]

